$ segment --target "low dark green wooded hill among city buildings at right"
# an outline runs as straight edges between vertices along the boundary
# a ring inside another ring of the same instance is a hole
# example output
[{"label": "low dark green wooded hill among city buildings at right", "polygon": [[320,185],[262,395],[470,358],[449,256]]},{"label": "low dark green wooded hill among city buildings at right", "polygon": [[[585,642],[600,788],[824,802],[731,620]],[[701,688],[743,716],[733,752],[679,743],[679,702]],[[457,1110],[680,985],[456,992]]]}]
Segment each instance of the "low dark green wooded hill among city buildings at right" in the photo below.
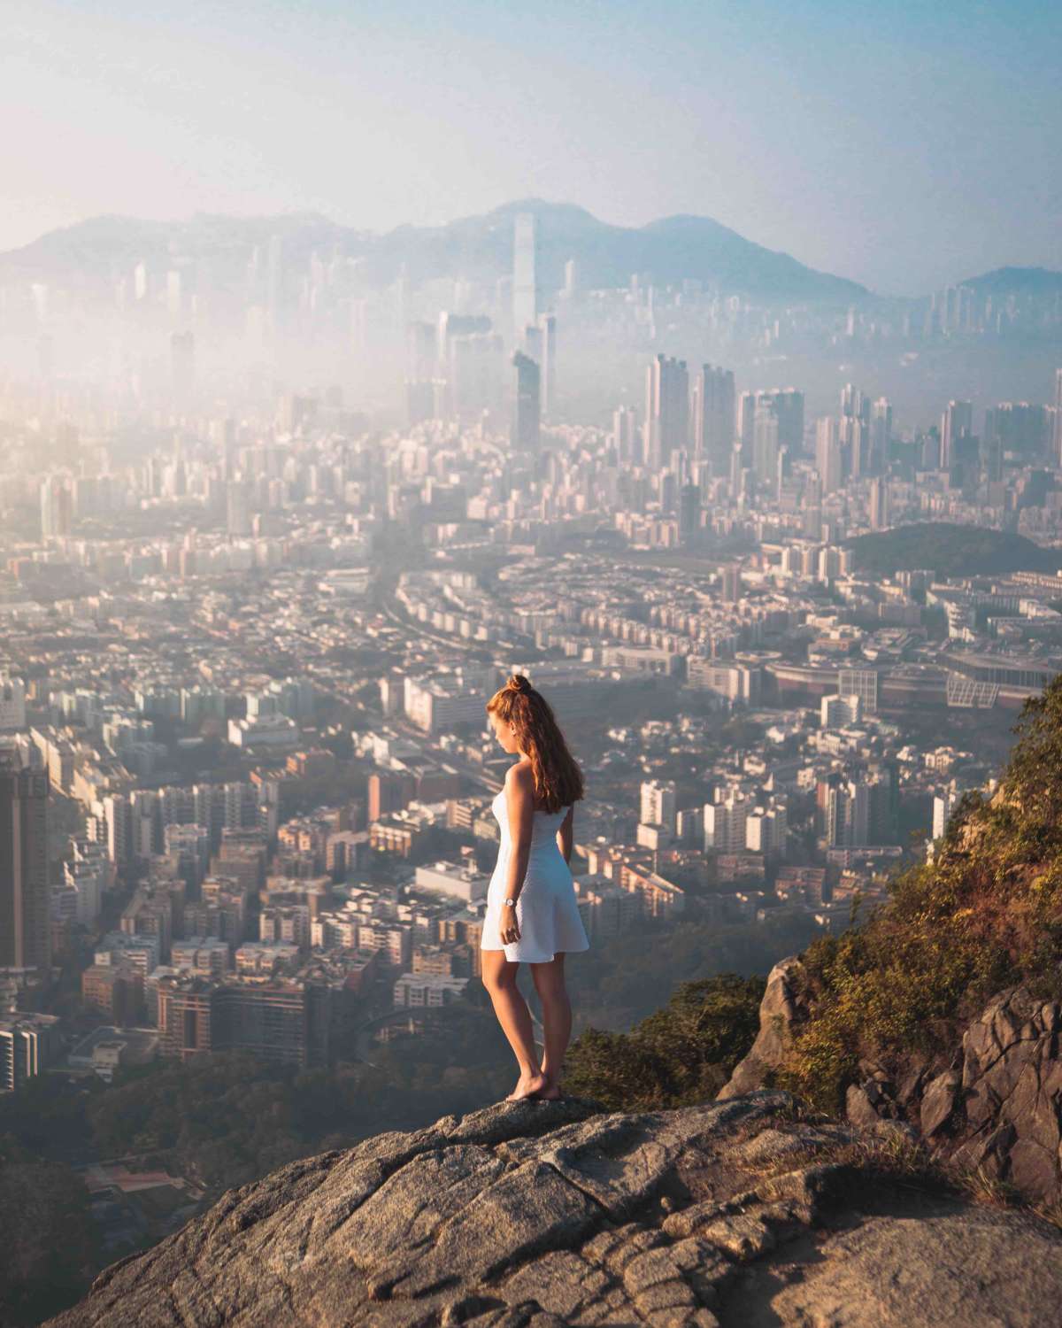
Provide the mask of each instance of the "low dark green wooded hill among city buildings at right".
[{"label": "low dark green wooded hill among city buildings at right", "polygon": [[847,547],[856,571],[879,576],[920,568],[939,576],[989,576],[1062,567],[1061,550],[1042,548],[1025,535],[940,521],[859,535]]}]

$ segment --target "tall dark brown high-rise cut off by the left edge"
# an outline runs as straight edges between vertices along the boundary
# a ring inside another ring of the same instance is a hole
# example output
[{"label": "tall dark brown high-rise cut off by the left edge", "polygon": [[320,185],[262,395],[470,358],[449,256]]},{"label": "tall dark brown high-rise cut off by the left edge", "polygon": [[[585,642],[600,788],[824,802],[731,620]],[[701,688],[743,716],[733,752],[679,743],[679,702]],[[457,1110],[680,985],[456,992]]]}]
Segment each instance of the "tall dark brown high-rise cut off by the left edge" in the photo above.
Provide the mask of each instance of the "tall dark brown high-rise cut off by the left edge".
[{"label": "tall dark brown high-rise cut off by the left edge", "polygon": [[0,765],[0,968],[48,969],[48,776]]}]

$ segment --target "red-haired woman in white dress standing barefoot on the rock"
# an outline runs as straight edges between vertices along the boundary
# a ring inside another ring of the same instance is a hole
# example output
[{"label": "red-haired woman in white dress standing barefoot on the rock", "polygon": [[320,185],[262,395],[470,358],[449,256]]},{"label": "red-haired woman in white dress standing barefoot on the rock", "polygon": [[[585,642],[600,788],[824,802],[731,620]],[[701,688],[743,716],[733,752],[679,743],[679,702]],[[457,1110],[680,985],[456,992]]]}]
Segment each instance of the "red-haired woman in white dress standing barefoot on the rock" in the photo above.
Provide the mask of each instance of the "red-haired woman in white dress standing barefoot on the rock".
[{"label": "red-haired woman in white dress standing barefoot on the rock", "polygon": [[[520,1066],[506,1101],[554,1101],[560,1097],[572,1031],[564,955],[589,948],[568,870],[572,809],[583,797],[583,776],[546,699],[522,675],[514,673],[494,693],[487,714],[502,748],[518,753],[519,761],[508,768],[491,803],[502,842],[483,920],[483,985]],[[522,963],[531,965],[542,1001],[540,1062],[531,1012],[516,987]]]}]

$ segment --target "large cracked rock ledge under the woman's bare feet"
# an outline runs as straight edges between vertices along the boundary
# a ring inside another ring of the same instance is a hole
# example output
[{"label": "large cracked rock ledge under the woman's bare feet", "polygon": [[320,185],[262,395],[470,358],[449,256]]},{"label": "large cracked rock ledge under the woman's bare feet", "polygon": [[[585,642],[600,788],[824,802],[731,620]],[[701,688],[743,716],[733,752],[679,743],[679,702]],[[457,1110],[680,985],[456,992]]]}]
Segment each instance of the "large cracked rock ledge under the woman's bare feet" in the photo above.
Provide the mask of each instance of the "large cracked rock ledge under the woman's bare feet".
[{"label": "large cracked rock ledge under the woman's bare feet", "polygon": [[499,1104],[292,1163],[104,1272],[57,1328],[1022,1328],[1062,1236],[868,1183],[856,1131],[759,1092]]}]

